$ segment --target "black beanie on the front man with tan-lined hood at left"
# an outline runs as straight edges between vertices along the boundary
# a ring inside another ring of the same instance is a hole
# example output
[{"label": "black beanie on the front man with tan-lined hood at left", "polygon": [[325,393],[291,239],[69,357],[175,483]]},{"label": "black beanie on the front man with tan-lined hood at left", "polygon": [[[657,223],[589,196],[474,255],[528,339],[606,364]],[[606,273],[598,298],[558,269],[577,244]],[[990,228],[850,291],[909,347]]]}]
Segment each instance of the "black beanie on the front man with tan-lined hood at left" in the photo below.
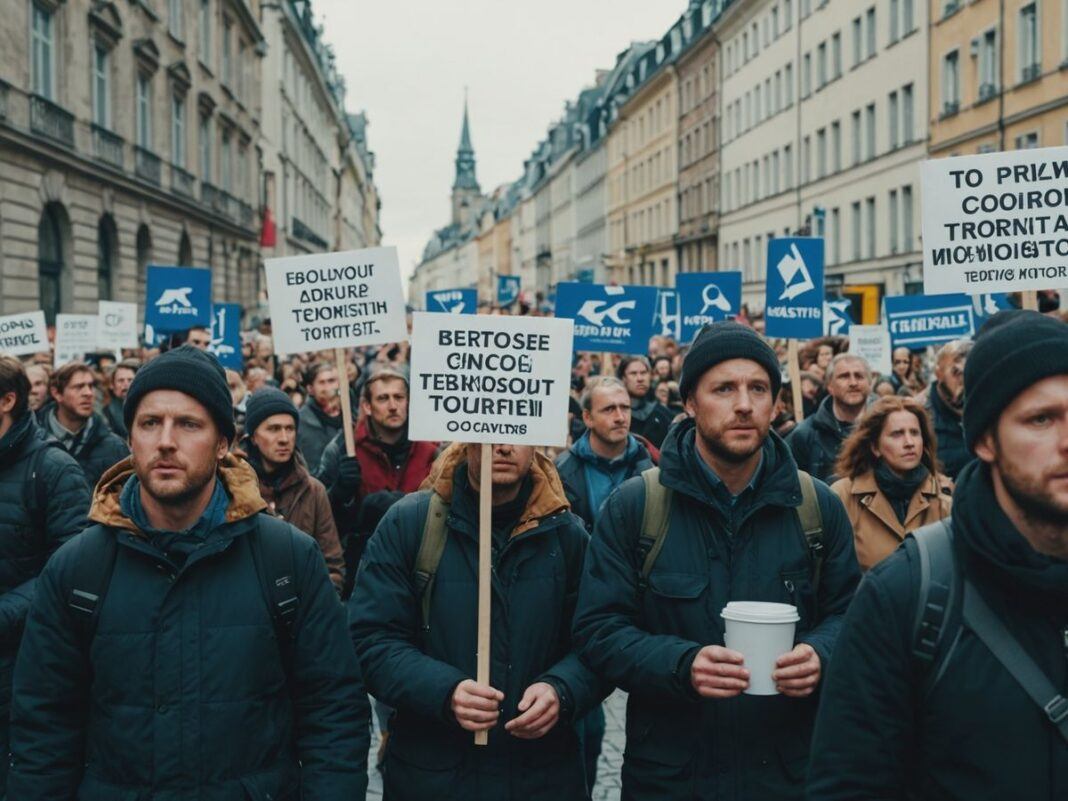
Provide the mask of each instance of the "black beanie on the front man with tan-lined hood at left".
[{"label": "black beanie on the front man with tan-lined hood at left", "polygon": [[219,360],[192,345],[160,354],[134,376],[123,402],[126,429],[134,429],[134,415],[141,398],[156,390],[176,390],[207,409],[227,441],[234,439],[234,398]]}]

